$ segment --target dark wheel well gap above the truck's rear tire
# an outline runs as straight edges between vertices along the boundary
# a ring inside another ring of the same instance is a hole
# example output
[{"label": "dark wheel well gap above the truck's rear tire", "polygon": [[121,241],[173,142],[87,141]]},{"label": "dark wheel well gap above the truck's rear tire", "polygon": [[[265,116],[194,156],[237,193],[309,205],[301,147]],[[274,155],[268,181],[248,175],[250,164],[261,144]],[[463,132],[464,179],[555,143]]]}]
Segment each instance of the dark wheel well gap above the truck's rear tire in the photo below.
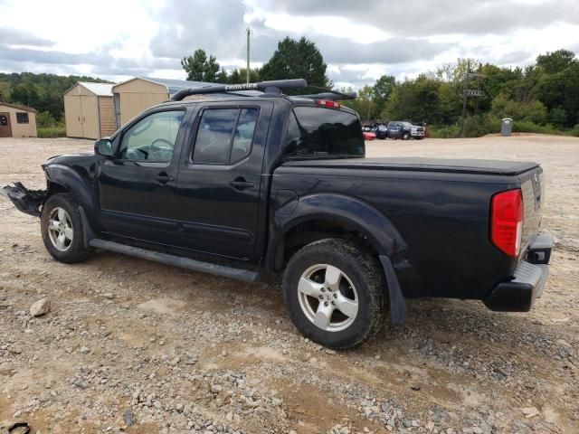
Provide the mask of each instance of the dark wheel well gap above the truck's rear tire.
[{"label": "dark wheel well gap above the truck's rear tire", "polygon": [[274,269],[284,269],[289,259],[299,249],[308,244],[338,238],[355,243],[362,250],[368,251],[375,258],[378,250],[368,240],[364,233],[345,222],[337,222],[330,219],[318,219],[302,222],[287,231],[275,250]]}]

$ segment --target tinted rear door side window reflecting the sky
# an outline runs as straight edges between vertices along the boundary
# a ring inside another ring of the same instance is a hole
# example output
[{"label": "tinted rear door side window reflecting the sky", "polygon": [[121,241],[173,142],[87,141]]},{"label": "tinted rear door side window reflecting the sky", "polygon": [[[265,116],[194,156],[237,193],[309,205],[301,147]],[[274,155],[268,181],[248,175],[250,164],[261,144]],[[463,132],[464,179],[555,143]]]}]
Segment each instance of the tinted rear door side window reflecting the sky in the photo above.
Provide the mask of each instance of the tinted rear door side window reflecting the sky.
[{"label": "tinted rear door side window reflecting the sky", "polygon": [[195,137],[193,161],[227,165],[249,156],[259,115],[257,108],[204,110]]}]

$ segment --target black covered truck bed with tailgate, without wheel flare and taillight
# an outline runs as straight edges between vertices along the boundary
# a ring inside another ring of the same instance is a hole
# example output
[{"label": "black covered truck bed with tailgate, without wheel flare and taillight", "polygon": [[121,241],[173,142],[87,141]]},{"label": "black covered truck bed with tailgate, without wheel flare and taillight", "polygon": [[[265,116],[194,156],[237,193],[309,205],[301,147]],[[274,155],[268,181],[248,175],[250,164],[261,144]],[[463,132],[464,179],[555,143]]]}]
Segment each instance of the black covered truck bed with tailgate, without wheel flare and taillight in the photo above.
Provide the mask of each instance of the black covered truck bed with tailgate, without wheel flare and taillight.
[{"label": "black covered truck bed with tailgate, without wheel flare and taillight", "polygon": [[403,237],[408,255],[394,267],[405,297],[483,299],[518,262],[490,241],[492,196],[521,188],[523,256],[539,231],[541,180],[540,165],[518,161],[318,158],[284,162],[274,171],[272,192],[293,190],[301,200],[331,186],[332,193],[356,196]]}]

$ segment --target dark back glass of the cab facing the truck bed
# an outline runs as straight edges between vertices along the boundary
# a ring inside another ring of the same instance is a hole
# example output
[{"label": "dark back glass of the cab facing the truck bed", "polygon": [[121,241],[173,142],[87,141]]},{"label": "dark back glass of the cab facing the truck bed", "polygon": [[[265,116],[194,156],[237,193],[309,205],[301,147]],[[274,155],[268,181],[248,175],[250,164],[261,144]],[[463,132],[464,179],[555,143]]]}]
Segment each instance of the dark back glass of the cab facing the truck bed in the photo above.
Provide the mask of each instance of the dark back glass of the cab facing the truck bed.
[{"label": "dark back glass of the cab facing the truck bed", "polygon": [[289,114],[285,152],[289,158],[364,156],[360,120],[336,109],[296,107]]}]

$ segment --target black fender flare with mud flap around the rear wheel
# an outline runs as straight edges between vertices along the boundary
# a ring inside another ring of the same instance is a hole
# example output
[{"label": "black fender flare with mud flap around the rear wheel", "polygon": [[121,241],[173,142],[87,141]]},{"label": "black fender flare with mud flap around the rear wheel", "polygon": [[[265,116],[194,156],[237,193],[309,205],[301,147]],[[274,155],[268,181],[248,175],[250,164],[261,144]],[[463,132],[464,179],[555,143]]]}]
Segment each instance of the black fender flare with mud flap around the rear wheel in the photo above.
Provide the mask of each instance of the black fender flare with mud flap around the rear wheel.
[{"label": "black fender flare with mud flap around the rear wheel", "polygon": [[360,199],[339,193],[313,193],[296,198],[276,210],[271,219],[272,239],[266,255],[268,269],[274,268],[276,251],[288,231],[299,223],[315,220],[343,222],[368,239],[377,250],[384,270],[393,323],[403,323],[406,305],[395,265],[404,263],[404,267],[408,267],[407,245],[383,212]]}]

